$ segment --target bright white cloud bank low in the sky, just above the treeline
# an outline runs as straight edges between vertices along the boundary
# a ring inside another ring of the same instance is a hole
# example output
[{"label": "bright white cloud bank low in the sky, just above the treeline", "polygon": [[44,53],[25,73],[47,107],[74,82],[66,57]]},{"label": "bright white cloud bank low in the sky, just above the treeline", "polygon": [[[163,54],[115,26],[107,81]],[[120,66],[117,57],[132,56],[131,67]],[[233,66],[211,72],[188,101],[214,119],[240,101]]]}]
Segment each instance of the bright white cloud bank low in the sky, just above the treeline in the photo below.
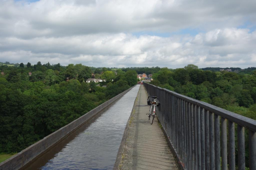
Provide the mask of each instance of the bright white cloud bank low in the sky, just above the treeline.
[{"label": "bright white cloud bank low in the sky, just above the treeline", "polygon": [[[136,37],[125,33],[101,33],[59,38],[6,38],[0,40],[0,59],[23,63],[82,63],[97,67],[177,68],[190,63],[199,67],[225,64],[248,67],[256,64],[255,35],[255,31],[250,33],[248,29],[226,28],[194,37]],[[219,41],[219,45],[214,44],[215,41]]]}]

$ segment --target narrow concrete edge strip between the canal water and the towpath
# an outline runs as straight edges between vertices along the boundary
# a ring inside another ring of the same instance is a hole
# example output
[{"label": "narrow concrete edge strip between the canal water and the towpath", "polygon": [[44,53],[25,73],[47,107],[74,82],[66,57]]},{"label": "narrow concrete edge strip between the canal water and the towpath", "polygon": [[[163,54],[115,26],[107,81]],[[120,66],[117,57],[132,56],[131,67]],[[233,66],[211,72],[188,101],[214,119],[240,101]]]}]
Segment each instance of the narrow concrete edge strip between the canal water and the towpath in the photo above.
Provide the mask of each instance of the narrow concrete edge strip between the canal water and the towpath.
[{"label": "narrow concrete edge strip between the canal water and the towpath", "polygon": [[130,120],[131,120],[132,115],[133,115],[132,113],[133,113],[133,111],[135,109],[135,106],[136,106],[136,100],[138,98],[138,94],[139,94],[139,90],[138,90],[137,96],[136,96],[136,98],[134,100],[134,104],[133,104],[133,107],[132,107],[132,111],[131,111],[130,117],[129,117],[129,119],[128,119],[127,123],[126,123],[126,127],[124,129],[124,135],[122,137],[122,141],[120,143],[120,146],[119,146],[119,149],[118,149],[118,152],[117,152],[117,155],[116,155],[116,162],[114,164],[113,170],[118,170],[119,169],[119,165],[120,165],[121,160],[122,160],[122,154],[124,153],[124,146],[125,146],[126,138],[128,136],[128,131],[129,131],[129,124],[130,124]]}]

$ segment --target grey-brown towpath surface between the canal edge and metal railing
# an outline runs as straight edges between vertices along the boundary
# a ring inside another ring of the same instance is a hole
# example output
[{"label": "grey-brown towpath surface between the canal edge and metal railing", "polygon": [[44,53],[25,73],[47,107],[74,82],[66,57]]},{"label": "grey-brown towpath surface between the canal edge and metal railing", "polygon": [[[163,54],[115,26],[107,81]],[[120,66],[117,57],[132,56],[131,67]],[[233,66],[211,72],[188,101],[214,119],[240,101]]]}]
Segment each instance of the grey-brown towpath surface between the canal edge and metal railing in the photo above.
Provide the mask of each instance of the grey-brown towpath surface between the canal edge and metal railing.
[{"label": "grey-brown towpath surface between the canal edge and metal railing", "polygon": [[158,119],[150,124],[146,113],[148,94],[140,86],[136,107],[130,120],[128,135],[124,145],[120,170],[178,170]]}]

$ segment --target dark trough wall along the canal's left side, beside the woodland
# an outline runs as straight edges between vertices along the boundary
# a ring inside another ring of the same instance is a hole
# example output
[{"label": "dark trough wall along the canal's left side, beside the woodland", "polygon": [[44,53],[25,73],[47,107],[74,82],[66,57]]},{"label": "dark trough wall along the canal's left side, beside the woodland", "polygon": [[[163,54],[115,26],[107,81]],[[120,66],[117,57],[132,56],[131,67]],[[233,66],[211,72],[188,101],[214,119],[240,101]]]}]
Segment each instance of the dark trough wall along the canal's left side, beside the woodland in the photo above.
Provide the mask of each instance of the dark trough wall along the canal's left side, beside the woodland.
[{"label": "dark trough wall along the canal's left side, beside the woodland", "polygon": [[91,111],[88,111],[86,114],[82,115],[78,119],[72,121],[68,125],[58,129],[54,133],[44,137],[40,141],[34,143],[33,145],[27,147],[26,149],[22,150],[18,154],[12,156],[11,158],[5,160],[4,162],[0,163],[0,170],[18,170],[28,164],[29,162],[33,161],[34,158],[39,156],[41,153],[64,139],[67,135],[69,135],[72,131],[76,130],[78,127],[86,123],[89,119],[94,117],[104,108],[110,106],[113,102],[118,100],[128,91],[130,91],[134,86],[129,88],[128,90],[118,94],[117,96],[111,98],[110,100],[104,102],[100,106],[95,107]]}]

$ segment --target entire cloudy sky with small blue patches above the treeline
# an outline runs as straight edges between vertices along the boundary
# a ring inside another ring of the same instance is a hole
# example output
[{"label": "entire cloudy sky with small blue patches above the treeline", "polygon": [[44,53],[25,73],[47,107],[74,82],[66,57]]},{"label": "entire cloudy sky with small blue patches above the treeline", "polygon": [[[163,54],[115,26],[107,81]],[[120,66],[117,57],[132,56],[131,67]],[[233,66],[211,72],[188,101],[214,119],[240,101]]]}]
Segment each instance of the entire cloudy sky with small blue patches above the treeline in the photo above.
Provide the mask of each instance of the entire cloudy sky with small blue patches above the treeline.
[{"label": "entire cloudy sky with small blue patches above the treeline", "polygon": [[256,0],[0,0],[0,61],[256,66]]}]

